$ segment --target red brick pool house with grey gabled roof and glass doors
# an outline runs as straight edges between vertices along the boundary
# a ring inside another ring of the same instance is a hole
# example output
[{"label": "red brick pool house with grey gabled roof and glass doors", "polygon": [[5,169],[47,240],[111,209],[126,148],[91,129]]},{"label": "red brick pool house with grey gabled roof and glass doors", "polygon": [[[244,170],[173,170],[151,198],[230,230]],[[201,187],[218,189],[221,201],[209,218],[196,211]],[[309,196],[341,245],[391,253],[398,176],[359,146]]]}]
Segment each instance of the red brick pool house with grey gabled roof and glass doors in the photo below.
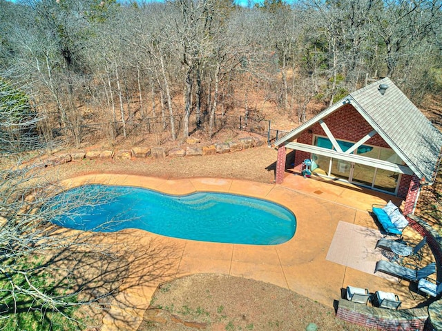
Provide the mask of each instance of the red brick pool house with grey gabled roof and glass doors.
[{"label": "red brick pool house with grey gabled roof and glass doors", "polygon": [[276,183],[284,181],[287,150],[295,150],[296,171],[309,159],[314,174],[401,197],[403,213],[410,214],[421,186],[436,177],[442,133],[384,78],[350,93],[275,146]]}]

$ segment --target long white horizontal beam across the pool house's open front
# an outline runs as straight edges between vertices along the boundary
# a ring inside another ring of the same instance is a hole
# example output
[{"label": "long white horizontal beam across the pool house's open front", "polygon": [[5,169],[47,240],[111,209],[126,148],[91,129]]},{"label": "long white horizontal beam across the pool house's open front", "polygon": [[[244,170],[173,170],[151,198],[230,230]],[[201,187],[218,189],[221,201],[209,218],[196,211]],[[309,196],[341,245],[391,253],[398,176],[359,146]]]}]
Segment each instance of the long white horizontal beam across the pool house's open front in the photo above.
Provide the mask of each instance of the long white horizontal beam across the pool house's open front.
[{"label": "long white horizontal beam across the pool house's open front", "polygon": [[329,150],[328,148],[322,148],[318,146],[307,145],[305,143],[285,143],[286,148],[292,150],[302,150],[302,152],[314,153],[319,155],[324,155],[325,157],[332,157],[334,159],[340,159],[344,161],[360,163],[363,165],[369,165],[374,168],[381,168],[385,170],[390,170],[398,172],[400,174],[414,174],[407,165],[399,165],[389,161],[383,161],[379,159],[372,159],[371,157],[363,157],[358,154],[345,154],[337,152],[336,150]]}]

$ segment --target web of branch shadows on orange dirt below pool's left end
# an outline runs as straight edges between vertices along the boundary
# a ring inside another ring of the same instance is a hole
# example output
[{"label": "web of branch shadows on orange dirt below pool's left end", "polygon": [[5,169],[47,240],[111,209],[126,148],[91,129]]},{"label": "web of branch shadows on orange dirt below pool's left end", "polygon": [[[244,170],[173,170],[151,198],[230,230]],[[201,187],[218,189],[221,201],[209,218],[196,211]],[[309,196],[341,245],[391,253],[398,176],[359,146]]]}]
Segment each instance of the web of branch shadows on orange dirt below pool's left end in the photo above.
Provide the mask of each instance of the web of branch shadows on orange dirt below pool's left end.
[{"label": "web of branch shadows on orange dirt below pool's left end", "polygon": [[[97,319],[113,302],[127,306],[127,301],[119,302],[122,292],[136,288],[142,297],[141,288],[156,287],[176,274],[179,245],[162,238],[146,239],[145,234],[141,230],[99,233],[59,228],[51,240],[64,245],[41,251],[39,258],[23,268],[30,283],[42,292],[41,300],[20,292],[15,299],[2,298],[0,311],[3,316],[14,316],[16,323],[26,323],[34,314],[41,325],[51,325],[53,315],[48,312],[57,312],[81,325],[83,321],[75,316],[75,308],[81,307],[84,314]],[[37,253],[34,252],[35,257]],[[7,281],[8,274],[0,274],[0,283]],[[16,278],[15,285],[32,289],[24,277]],[[45,295],[48,302],[44,302]]]}]

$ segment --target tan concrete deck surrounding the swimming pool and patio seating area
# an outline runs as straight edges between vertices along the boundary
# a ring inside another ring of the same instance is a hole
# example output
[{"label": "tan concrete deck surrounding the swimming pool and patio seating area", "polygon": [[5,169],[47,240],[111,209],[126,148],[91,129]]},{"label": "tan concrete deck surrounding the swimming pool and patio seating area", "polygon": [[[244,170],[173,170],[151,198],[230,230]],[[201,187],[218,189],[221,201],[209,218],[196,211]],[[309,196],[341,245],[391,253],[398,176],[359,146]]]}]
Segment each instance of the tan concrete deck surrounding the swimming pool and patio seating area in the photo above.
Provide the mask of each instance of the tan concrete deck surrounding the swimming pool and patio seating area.
[{"label": "tan concrete deck surrounding the swimming pool and patio seating area", "polygon": [[[386,203],[389,199],[396,204],[401,202],[388,194],[294,174],[287,175],[282,185],[237,179],[168,180],[125,174],[90,174],[62,182],[65,188],[85,183],[133,185],[168,194],[195,191],[243,194],[285,205],[294,212],[297,222],[294,238],[280,245],[207,243],[161,237],[142,230],[124,230],[118,236],[108,234],[115,238],[116,245],[137,243],[148,247],[153,239],[172,248],[176,258],[164,262],[169,272],[157,272],[149,281],[143,279],[146,274],[153,274],[149,270],[151,265],[133,259],[130,279],[123,283],[122,291],[111,303],[102,331],[137,330],[158,285],[195,273],[229,274],[273,283],[331,308],[347,285],[368,288],[370,292],[394,292],[403,301],[401,308],[419,303],[412,299],[407,281],[399,283],[394,277],[373,274],[371,267],[352,268],[367,259],[375,259],[368,261],[372,264],[383,259],[380,250],[376,252],[374,247],[354,250],[354,243],[347,241],[353,234],[347,231],[363,231],[361,238],[367,239],[366,245],[376,243],[376,236],[380,234],[368,210],[373,203]],[[405,236],[417,236],[412,230],[407,231]],[[345,259],[337,263],[336,258],[343,254],[347,254]]]}]

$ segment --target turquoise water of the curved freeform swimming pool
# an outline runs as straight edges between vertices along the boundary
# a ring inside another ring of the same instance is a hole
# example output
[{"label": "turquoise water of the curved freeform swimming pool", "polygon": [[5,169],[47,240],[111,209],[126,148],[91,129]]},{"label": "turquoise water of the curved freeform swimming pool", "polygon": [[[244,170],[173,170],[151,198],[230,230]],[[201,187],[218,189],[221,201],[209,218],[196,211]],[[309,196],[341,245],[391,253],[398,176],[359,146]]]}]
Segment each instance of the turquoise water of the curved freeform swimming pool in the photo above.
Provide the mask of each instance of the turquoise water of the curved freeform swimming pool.
[{"label": "turquoise water of the curved freeform swimming pool", "polygon": [[137,228],[167,237],[274,245],[294,236],[294,214],[276,203],[240,195],[198,192],[174,196],[143,188],[84,185],[54,198],[52,223],[113,232]]}]

